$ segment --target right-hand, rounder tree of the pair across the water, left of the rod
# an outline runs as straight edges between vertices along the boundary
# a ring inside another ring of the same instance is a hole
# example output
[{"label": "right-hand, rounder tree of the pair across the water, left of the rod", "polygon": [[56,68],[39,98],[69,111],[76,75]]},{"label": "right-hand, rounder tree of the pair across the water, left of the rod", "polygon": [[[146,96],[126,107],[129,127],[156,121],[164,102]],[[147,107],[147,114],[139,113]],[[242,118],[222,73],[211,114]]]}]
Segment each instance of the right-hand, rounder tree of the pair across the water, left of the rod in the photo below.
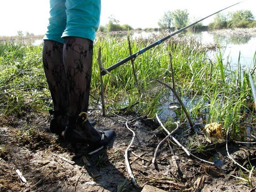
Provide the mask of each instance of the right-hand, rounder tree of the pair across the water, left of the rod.
[{"label": "right-hand, rounder tree of the pair across the water, left of the rod", "polygon": [[181,29],[185,27],[188,23],[188,12],[187,10],[175,10],[171,13],[171,16],[173,18],[173,25],[177,29]]}]

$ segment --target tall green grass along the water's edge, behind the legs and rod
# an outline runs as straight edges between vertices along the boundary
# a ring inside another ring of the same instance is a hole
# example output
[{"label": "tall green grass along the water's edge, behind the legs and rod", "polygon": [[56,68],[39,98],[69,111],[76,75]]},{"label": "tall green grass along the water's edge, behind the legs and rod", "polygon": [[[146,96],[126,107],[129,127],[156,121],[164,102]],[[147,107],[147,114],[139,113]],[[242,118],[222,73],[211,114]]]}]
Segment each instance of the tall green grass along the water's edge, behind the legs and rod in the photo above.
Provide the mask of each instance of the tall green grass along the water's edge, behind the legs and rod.
[{"label": "tall green grass along the water's edge, behind the legs and rod", "polygon": [[[162,34],[165,36],[165,34]],[[131,40],[135,53],[148,44],[160,39]],[[90,104],[100,101],[100,78],[97,64],[98,49],[101,47],[102,64],[105,68],[129,56],[127,39],[99,36],[94,45],[93,73]],[[138,83],[135,82],[131,63],[121,65],[103,77],[106,107],[116,109],[128,106],[128,110],[154,117],[161,113],[160,101],[169,92],[157,83],[158,78],[172,82],[170,58],[172,53],[174,80],[182,99],[189,98],[186,107],[194,121],[203,117],[203,123],[221,122],[224,128],[232,127],[233,136],[241,132],[241,122],[247,112],[252,111],[252,101],[246,101],[250,94],[245,75],[229,63],[224,64],[222,53],[209,60],[207,47],[191,38],[172,38],[140,55],[134,61]],[[42,45],[0,44],[0,110],[4,115],[23,115],[28,110],[46,112],[52,107],[42,67]],[[133,107],[132,104],[139,102]],[[183,110],[179,112],[185,118]]]}]

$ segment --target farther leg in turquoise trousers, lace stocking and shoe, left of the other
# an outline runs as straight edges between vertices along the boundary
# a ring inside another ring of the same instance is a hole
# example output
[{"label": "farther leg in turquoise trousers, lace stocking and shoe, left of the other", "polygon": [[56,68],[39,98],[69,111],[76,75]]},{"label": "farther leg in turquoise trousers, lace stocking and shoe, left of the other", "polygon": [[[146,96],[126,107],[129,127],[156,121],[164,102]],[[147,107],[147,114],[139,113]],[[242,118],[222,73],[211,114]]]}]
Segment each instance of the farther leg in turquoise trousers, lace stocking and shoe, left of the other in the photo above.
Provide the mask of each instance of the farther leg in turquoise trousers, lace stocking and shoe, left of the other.
[{"label": "farther leg in turquoise trousers, lace stocking and shoe, left of the other", "polygon": [[63,65],[63,43],[61,38],[66,28],[65,0],[50,0],[50,18],[48,30],[44,36],[43,67],[49,90],[53,99],[54,115],[50,129],[61,134],[67,122],[66,73]]}]

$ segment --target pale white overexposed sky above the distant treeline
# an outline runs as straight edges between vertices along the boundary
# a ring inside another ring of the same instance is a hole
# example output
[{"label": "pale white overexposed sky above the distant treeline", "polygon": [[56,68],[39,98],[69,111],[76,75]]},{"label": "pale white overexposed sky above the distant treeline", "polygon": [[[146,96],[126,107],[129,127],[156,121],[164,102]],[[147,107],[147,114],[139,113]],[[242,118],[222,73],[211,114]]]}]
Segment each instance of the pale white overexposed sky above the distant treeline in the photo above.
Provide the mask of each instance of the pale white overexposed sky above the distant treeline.
[{"label": "pale white overexposed sky above the distant treeline", "polygon": [[[189,18],[200,19],[237,2],[239,0],[102,0],[100,25],[108,23],[113,15],[120,25],[156,28],[165,11],[187,9]],[[20,30],[39,35],[47,30],[49,0],[1,0],[0,5],[0,36],[17,35]],[[256,0],[246,0],[223,13],[238,10],[251,10],[256,17]],[[203,24],[207,25],[213,18],[205,19]]]}]

